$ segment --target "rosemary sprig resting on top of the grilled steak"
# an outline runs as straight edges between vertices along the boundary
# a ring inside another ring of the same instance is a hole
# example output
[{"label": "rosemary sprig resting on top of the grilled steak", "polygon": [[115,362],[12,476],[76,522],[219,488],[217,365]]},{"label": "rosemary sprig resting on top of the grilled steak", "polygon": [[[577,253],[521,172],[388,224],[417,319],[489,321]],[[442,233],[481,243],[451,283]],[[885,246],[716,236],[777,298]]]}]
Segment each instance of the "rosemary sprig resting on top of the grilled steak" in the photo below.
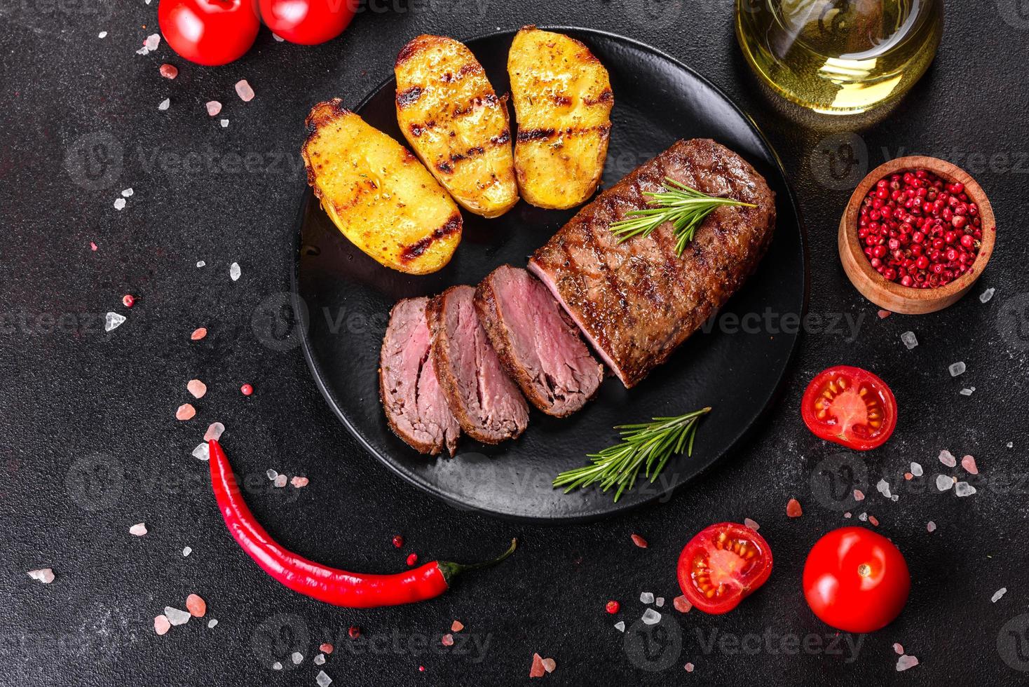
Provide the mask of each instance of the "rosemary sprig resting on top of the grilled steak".
[{"label": "rosemary sprig resting on top of the grilled steak", "polygon": [[618,238],[618,243],[629,241],[632,237],[648,237],[665,222],[671,222],[675,230],[675,252],[680,257],[686,249],[686,244],[694,240],[694,233],[701,222],[719,206],[737,206],[753,208],[755,206],[733,198],[705,195],[696,188],[665,177],[665,186],[659,192],[645,191],[654,206],[645,210],[630,210],[626,218],[613,222],[611,231]]}]

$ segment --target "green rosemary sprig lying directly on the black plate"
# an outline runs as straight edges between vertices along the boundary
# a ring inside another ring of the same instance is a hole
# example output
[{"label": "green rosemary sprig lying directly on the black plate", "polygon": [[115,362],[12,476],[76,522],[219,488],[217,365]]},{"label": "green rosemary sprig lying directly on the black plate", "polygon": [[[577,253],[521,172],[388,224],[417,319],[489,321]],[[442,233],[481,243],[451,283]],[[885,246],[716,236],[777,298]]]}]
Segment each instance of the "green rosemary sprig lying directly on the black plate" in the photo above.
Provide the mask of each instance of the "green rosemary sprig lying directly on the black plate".
[{"label": "green rosemary sprig lying directly on the black plate", "polygon": [[710,407],[687,412],[677,418],[652,418],[649,423],[618,425],[622,443],[608,446],[599,454],[590,454],[591,465],[562,472],[554,479],[555,486],[564,486],[565,494],[580,486],[600,482],[603,492],[618,485],[614,493],[617,501],[622,493],[632,489],[640,469],[652,483],[673,455],[694,454],[697,423]]}]

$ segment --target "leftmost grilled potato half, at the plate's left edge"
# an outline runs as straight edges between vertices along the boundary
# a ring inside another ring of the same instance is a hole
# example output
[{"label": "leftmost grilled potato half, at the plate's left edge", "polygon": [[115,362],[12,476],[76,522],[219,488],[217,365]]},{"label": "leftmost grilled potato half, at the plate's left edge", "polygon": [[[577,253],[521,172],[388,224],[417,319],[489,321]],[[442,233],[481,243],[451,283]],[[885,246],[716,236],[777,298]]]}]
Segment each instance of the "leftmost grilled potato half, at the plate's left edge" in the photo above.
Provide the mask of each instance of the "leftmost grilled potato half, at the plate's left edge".
[{"label": "leftmost grilled potato half, at the plate's left edge", "polygon": [[447,264],[461,212],[411,151],[333,98],[308,115],[301,154],[322,208],[355,246],[411,275]]}]

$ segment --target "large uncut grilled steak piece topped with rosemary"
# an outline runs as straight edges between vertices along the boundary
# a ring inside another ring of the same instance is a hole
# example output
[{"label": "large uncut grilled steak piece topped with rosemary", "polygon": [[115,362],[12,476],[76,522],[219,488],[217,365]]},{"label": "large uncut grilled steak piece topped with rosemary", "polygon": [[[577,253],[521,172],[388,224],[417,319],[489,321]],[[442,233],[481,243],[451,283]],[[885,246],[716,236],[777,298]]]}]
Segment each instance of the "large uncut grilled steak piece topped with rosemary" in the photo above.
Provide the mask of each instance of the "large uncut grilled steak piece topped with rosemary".
[{"label": "large uncut grilled steak piece topped with rosemary", "polygon": [[[665,177],[755,208],[721,207],[679,257],[668,223],[618,244],[609,227],[647,207]],[[547,286],[627,388],[665,362],[753,273],[775,229],[775,193],[732,150],[678,141],[586,206],[529,269]]]}]

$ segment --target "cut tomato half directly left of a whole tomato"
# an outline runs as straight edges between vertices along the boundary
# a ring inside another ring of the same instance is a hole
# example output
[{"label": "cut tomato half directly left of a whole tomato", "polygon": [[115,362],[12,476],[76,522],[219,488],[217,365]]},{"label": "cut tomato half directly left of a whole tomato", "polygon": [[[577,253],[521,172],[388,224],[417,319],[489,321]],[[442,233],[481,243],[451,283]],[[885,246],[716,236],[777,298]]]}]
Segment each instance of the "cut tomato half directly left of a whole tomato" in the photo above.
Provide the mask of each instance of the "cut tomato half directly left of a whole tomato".
[{"label": "cut tomato half directly left of a whole tomato", "polygon": [[772,549],[750,528],[719,522],[689,540],[676,572],[689,603],[705,613],[728,613],[772,574]]}]

